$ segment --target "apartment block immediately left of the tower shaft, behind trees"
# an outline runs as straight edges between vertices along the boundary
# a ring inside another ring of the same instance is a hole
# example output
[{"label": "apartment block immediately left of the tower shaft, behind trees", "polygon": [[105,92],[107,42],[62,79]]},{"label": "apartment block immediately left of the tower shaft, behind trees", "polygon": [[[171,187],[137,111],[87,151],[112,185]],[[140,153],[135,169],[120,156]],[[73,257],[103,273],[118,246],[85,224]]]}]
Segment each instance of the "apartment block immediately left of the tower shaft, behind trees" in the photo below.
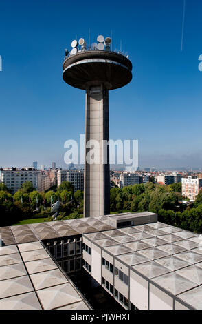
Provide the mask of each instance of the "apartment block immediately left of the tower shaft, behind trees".
[{"label": "apartment block immediately left of the tower shaft, behind trees", "polygon": [[58,170],[58,187],[63,181],[69,181],[74,185],[74,190],[84,190],[84,170]]}]

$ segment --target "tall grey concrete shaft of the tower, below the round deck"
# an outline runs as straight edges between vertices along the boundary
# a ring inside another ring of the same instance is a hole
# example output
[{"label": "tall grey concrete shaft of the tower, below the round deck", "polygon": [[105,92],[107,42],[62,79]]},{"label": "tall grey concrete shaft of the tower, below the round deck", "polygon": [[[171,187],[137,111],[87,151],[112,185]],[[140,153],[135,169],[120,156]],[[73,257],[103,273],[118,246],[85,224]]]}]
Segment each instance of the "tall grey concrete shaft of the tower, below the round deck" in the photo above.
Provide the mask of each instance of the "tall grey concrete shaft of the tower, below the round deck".
[{"label": "tall grey concrete shaft of the tower, below the round deck", "polygon": [[99,148],[93,151],[100,157],[100,163],[85,165],[85,215],[106,215],[110,213],[109,146],[104,150],[102,143],[109,141],[109,90],[103,85],[86,91],[85,134],[86,156],[87,142],[96,140]]}]

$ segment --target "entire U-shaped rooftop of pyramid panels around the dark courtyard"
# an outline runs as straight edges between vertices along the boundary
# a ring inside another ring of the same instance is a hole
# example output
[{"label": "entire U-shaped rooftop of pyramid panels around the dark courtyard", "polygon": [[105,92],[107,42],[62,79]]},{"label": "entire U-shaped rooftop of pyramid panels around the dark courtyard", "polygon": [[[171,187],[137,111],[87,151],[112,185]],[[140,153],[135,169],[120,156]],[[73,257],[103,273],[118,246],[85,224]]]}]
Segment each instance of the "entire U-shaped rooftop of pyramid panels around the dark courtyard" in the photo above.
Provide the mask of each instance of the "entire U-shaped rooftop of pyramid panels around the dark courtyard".
[{"label": "entire U-shaped rooftop of pyramid panels around the dark courtyard", "polygon": [[[0,227],[0,309],[89,309],[41,241],[82,235],[190,308],[202,309],[202,236],[153,222],[117,228],[155,214],[115,214]],[[116,222],[115,222],[116,223]]]}]

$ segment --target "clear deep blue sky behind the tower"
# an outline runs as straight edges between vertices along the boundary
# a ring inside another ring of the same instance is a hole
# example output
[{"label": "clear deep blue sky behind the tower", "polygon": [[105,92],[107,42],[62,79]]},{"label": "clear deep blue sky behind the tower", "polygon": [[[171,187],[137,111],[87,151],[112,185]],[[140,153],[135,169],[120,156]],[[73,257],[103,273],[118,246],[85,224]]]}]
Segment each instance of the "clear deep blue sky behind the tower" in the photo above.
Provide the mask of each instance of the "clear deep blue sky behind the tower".
[{"label": "clear deep blue sky behind the tower", "polygon": [[110,138],[138,139],[143,167],[201,167],[202,1],[0,1],[0,166],[65,166],[85,131],[85,92],[62,78],[76,37],[110,36],[133,80],[109,95]]}]

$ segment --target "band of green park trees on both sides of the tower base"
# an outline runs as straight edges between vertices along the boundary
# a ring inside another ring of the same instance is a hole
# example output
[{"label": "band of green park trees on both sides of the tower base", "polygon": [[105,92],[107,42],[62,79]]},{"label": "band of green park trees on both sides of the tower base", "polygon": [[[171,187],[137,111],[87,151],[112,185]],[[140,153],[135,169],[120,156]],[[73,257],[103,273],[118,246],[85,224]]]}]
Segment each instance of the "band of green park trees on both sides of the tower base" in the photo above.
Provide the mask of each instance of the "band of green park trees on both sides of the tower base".
[{"label": "band of green park trees on both sides of the tower base", "polygon": [[[25,182],[15,194],[0,183],[0,226],[53,221],[51,205],[60,201],[57,220],[74,219],[83,214],[83,192],[64,181],[47,192],[38,192]],[[202,190],[197,199],[185,204],[181,183],[159,185],[153,182],[135,184],[122,189],[112,187],[111,213],[155,212],[158,220],[192,232],[202,232]]]}]

